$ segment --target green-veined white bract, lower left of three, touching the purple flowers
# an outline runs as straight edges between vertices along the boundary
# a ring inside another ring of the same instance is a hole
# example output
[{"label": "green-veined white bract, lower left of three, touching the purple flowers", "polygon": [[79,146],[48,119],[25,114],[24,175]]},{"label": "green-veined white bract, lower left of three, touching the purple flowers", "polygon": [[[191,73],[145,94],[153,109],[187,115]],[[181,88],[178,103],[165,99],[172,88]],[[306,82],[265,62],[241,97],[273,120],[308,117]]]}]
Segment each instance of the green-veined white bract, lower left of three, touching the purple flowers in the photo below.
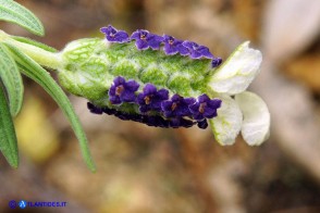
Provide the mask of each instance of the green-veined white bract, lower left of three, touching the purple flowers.
[{"label": "green-veined white bract, lower left of three, touching the purple flowers", "polygon": [[243,114],[235,100],[229,96],[217,97],[222,100],[218,116],[209,120],[216,140],[220,145],[233,145],[242,128]]}]

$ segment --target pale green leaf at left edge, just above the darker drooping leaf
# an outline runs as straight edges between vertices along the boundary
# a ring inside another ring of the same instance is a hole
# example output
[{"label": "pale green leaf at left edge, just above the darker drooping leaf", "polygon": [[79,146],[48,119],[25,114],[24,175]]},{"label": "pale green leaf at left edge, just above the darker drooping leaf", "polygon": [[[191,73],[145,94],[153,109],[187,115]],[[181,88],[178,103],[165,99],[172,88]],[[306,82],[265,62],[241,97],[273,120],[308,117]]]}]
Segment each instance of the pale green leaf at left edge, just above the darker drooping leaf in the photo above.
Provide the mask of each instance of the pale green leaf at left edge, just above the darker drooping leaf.
[{"label": "pale green leaf at left edge, just above the darker drooping leaf", "polygon": [[11,115],[16,116],[23,101],[23,83],[15,61],[2,43],[0,43],[0,78],[9,97]]}]

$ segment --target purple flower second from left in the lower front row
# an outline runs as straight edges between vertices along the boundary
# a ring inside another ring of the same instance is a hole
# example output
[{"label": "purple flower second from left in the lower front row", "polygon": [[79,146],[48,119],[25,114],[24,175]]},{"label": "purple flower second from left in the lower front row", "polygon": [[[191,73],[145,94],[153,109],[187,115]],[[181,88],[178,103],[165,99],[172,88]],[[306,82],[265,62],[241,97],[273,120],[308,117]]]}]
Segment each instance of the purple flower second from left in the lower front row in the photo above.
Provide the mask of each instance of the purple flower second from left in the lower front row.
[{"label": "purple flower second from left in the lower front row", "polygon": [[137,97],[137,103],[139,104],[139,111],[146,113],[150,110],[160,111],[161,102],[169,99],[169,91],[167,89],[159,89],[152,84],[147,84],[144,88],[144,92]]}]

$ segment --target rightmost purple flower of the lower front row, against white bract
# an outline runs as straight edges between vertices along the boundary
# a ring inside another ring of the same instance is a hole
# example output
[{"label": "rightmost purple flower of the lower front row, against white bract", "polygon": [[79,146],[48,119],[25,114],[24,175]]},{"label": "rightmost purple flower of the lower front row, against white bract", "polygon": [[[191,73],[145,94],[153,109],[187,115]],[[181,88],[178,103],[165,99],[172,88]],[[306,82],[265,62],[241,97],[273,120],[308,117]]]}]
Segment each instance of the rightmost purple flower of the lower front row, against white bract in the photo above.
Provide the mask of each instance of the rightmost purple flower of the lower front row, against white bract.
[{"label": "rightmost purple flower of the lower front row, against white bract", "polygon": [[221,106],[220,99],[210,99],[206,93],[198,97],[197,102],[189,105],[193,117],[197,121],[217,116],[217,109]]}]

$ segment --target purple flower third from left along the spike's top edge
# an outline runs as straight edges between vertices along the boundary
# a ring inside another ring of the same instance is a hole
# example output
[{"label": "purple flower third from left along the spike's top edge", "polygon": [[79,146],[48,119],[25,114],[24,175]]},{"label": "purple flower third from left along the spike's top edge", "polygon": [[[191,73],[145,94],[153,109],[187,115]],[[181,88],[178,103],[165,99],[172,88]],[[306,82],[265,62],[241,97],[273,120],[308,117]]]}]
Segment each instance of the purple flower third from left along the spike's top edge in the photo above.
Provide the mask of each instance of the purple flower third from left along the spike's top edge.
[{"label": "purple flower third from left along the spike's top edge", "polygon": [[188,48],[182,45],[183,40],[175,39],[174,37],[168,35],[164,35],[163,38],[163,50],[165,54],[176,54],[179,52],[181,55],[188,55],[190,53]]}]

